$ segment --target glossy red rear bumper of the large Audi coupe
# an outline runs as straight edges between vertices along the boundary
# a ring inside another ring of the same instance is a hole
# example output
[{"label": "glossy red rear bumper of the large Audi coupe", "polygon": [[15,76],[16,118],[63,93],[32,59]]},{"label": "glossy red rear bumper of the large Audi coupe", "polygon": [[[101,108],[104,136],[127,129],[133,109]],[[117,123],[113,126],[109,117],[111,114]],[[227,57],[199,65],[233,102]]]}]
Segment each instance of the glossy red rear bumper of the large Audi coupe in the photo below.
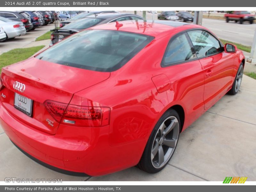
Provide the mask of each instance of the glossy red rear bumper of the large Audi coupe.
[{"label": "glossy red rear bumper of the large Audi coupe", "polygon": [[[17,111],[18,113],[21,113]],[[22,151],[48,167],[98,176],[136,165],[145,141],[109,145],[109,126],[74,127],[60,124],[55,135],[30,127],[12,116],[0,101],[0,124]],[[133,149],[141,148],[136,151]]]}]

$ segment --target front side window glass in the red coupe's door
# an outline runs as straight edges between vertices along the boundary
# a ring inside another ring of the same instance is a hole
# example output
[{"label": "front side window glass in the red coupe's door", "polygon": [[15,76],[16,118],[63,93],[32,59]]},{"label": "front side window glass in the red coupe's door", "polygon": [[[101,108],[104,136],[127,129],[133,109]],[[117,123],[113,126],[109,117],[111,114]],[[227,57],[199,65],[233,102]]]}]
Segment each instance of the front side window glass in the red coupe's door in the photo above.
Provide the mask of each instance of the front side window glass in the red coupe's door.
[{"label": "front side window glass in the red coupe's door", "polygon": [[202,30],[188,31],[198,58],[221,52],[219,41]]}]

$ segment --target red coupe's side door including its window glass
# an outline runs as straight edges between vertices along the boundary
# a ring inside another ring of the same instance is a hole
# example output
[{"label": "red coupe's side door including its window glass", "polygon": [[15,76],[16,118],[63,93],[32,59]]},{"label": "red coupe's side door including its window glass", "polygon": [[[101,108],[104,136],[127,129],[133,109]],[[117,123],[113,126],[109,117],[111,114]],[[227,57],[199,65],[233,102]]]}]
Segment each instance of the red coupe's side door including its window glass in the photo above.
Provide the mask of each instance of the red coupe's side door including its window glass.
[{"label": "red coupe's side door including its window glass", "polygon": [[204,103],[208,109],[231,86],[234,59],[231,53],[224,52],[223,45],[209,32],[191,30],[188,36],[204,69]]}]

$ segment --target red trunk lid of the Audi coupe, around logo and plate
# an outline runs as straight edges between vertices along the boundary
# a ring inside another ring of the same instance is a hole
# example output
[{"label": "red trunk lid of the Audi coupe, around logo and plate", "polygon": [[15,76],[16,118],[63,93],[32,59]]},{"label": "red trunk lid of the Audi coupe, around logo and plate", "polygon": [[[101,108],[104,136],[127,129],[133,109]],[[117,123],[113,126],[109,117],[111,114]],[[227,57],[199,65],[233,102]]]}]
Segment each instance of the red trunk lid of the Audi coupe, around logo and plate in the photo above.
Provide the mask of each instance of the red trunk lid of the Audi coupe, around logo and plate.
[{"label": "red trunk lid of the Audi coupe, around logo and plate", "polygon": [[[44,102],[53,100],[68,104],[74,93],[98,84],[109,76],[109,72],[90,71],[30,58],[2,69],[4,89],[1,94],[6,97],[0,99],[4,108],[28,127],[55,134],[59,123],[46,110]],[[23,92],[14,88],[16,81],[25,85]],[[31,117],[14,108],[15,93],[32,100]]]}]

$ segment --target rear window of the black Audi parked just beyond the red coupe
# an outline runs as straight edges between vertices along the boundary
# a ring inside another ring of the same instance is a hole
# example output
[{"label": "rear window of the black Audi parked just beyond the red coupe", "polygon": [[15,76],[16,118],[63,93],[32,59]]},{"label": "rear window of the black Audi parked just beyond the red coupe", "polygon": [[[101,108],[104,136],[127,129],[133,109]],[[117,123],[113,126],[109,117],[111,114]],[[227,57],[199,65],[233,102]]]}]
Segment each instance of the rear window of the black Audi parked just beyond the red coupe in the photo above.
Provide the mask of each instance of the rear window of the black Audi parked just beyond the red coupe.
[{"label": "rear window of the black Audi parked just beyond the red coupe", "polygon": [[79,21],[74,21],[68,25],[65,25],[62,29],[86,29],[97,25],[104,19],[99,18],[85,18]]}]

